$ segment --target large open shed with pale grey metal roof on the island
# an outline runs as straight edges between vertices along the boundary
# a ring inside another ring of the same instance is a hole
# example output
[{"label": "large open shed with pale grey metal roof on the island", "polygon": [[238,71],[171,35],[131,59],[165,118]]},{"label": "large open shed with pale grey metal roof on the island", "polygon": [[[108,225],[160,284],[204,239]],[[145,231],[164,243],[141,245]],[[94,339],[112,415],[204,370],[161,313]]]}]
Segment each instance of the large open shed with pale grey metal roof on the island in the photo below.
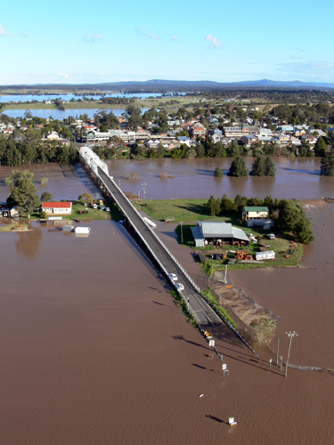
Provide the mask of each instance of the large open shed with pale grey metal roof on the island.
[{"label": "large open shed with pale grey metal roof on the island", "polygon": [[246,233],[238,227],[233,227],[231,223],[199,221],[197,226],[191,227],[191,232],[196,247],[204,247],[210,242],[215,243],[218,239],[230,244],[233,244],[236,241],[245,246],[248,246],[249,244],[249,239]]}]

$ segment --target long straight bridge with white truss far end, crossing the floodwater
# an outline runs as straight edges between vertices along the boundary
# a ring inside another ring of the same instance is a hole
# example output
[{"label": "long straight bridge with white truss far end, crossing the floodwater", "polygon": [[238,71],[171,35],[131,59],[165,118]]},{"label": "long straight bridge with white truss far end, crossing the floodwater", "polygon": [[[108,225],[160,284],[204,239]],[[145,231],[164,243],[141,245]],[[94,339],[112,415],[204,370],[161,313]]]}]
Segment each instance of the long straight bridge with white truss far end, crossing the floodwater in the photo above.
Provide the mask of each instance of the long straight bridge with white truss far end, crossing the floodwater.
[{"label": "long straight bridge with white truss far end, crossing the floodwater", "polygon": [[[99,158],[93,150],[88,147],[81,147],[79,150],[81,161],[90,171],[99,183],[100,187],[109,192],[111,198],[118,204],[119,208],[125,214],[127,221],[132,225],[134,231],[143,240],[147,249],[151,252],[162,271],[165,272],[168,279],[171,273],[175,273],[178,282],[183,284],[184,289],[179,291],[184,301],[189,304],[194,318],[202,327],[213,327],[221,325],[223,321],[217,316],[216,312],[200,295],[200,287],[191,279],[189,274],[184,271],[183,266],[178,263],[175,256],[167,249],[158,235],[151,230],[143,221],[141,214],[134,208],[132,203],[126,198],[126,195],[113,181],[109,175],[108,166]],[[171,284],[174,285],[172,279]]]}]

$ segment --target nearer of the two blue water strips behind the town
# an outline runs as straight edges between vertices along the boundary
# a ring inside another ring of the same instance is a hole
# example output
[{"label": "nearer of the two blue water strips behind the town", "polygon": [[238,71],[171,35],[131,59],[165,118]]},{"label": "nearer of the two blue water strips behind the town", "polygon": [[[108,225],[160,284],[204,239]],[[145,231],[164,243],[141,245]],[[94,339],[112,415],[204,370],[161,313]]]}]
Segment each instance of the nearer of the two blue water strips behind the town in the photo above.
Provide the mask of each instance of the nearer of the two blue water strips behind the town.
[{"label": "nearer of the two blue water strips behind the town", "polygon": [[[29,105],[27,105],[29,109]],[[80,114],[86,114],[88,117],[94,117],[94,114],[99,109],[66,109],[61,111],[61,109],[31,109],[31,114],[35,117],[43,117],[47,119],[48,117],[53,117],[53,119],[62,120],[64,117],[79,117]],[[126,109],[105,109],[107,112],[112,111],[115,116],[121,116]],[[146,109],[142,109],[143,113]],[[23,117],[26,109],[5,109],[4,114],[9,117]]]}]

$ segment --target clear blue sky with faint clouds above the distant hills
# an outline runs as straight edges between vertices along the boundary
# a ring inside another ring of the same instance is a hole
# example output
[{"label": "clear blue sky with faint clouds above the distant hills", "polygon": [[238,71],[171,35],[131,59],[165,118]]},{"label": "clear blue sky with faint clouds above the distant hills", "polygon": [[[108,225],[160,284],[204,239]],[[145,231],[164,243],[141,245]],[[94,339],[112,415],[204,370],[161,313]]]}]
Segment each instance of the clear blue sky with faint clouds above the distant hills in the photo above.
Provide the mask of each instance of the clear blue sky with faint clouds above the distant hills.
[{"label": "clear blue sky with faint clouds above the distant hills", "polygon": [[0,84],[334,82],[332,12],[328,0],[2,2]]}]

